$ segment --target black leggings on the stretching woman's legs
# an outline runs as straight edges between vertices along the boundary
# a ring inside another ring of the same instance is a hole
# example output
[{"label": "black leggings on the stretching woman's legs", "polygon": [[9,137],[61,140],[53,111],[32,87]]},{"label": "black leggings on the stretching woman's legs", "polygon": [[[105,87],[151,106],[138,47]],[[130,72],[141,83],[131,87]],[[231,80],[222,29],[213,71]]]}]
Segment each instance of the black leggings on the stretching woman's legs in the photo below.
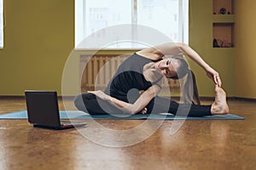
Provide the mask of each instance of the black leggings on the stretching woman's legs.
[{"label": "black leggings on the stretching woman's legs", "polygon": [[[79,94],[74,99],[74,104],[79,111],[90,113],[90,115],[106,115],[108,113],[122,113],[117,107],[96,98],[95,94]],[[212,105],[188,105],[178,104],[171,99],[155,97],[146,106],[147,114],[150,113],[172,113],[178,116],[211,116]]]}]

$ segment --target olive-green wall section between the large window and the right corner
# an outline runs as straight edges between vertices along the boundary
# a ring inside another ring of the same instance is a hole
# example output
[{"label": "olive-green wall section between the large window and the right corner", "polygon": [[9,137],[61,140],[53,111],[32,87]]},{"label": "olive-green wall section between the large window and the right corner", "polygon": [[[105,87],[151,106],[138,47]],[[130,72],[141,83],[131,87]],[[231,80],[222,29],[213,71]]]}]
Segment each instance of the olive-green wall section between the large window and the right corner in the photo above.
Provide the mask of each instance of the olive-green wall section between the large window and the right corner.
[{"label": "olive-green wall section between the large window and the right corner", "polygon": [[[189,45],[219,72],[228,96],[235,95],[234,48],[212,48],[212,0],[189,0]],[[205,71],[190,62],[201,96],[214,96],[214,84]]]}]

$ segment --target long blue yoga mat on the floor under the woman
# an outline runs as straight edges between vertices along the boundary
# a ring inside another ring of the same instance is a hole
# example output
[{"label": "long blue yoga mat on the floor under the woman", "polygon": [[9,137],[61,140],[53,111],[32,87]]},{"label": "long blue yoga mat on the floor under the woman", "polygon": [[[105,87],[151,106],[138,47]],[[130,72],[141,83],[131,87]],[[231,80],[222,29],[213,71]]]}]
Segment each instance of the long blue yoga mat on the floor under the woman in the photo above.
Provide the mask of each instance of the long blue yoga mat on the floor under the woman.
[{"label": "long blue yoga mat on the floor under the woman", "polygon": [[[88,113],[84,113],[83,111],[60,111],[61,119],[127,119],[127,120],[143,120],[143,119],[189,119],[189,120],[242,120],[245,119],[241,116],[235,116],[231,114],[227,115],[214,115],[214,116],[201,116],[201,117],[193,117],[193,116],[173,116],[172,114],[151,114],[151,115],[143,115],[137,114],[132,116],[124,115],[98,115],[98,116],[90,116]],[[27,119],[26,111],[15,111],[7,114],[0,114],[0,119]]]}]

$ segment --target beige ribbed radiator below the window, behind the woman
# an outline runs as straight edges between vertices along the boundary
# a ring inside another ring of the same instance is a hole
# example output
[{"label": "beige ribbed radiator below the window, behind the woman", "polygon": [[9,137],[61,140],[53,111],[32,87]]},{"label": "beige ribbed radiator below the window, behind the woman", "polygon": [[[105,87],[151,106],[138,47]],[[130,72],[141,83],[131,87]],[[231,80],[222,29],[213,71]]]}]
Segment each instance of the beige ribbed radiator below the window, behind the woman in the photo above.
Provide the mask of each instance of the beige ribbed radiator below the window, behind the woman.
[{"label": "beige ribbed radiator below the window, behind the woman", "polygon": [[[80,55],[81,91],[105,89],[119,65],[128,56],[119,54]],[[180,88],[179,82],[172,79],[162,78],[159,84],[162,88],[168,88],[171,91],[179,91]]]}]

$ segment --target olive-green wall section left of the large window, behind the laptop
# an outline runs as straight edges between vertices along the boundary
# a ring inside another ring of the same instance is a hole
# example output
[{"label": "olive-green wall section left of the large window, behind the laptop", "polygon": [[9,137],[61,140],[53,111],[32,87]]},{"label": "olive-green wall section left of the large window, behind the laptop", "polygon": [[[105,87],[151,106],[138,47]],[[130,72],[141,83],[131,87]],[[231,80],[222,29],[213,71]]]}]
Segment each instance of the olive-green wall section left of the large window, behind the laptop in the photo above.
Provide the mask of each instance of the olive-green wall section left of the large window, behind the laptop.
[{"label": "olive-green wall section left of the large window, behind the laptop", "polygon": [[73,49],[73,0],[6,0],[0,95],[55,89]]}]

